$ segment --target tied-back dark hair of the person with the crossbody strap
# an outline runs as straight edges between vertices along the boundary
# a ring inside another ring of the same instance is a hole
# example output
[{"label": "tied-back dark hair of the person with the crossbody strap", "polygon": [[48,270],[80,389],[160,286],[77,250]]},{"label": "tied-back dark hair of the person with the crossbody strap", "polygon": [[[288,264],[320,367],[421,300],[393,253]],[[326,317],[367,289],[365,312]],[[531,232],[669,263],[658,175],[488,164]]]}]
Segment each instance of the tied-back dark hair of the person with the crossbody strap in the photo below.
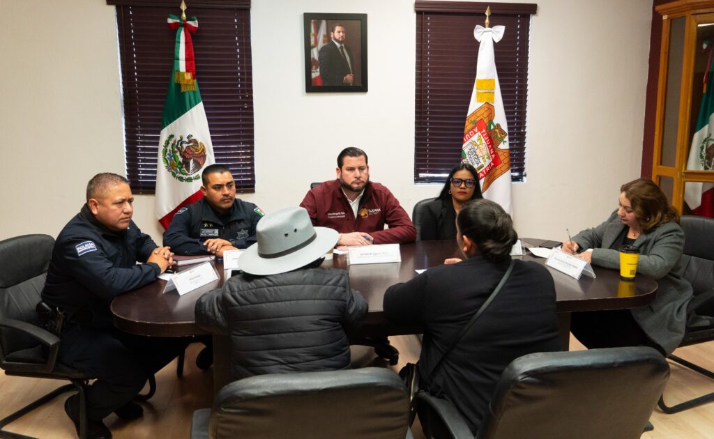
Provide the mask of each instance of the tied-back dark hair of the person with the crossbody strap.
[{"label": "tied-back dark hair of the person with the crossbody strap", "polygon": [[511,216],[498,203],[486,198],[467,201],[458,211],[456,225],[486,260],[502,262],[511,258],[511,247],[518,241],[518,233],[513,230]]}]

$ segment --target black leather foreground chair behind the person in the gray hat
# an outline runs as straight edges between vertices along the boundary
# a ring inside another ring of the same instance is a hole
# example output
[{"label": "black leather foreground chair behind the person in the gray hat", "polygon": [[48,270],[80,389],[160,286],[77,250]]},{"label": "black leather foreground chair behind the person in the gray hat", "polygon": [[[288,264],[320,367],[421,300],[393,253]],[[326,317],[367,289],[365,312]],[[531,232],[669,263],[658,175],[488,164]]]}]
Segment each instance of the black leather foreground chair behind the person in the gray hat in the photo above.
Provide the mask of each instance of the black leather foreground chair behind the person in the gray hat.
[{"label": "black leather foreground chair behind the person in the gray hat", "polygon": [[193,413],[191,439],[411,438],[406,388],[382,368],[258,375]]}]

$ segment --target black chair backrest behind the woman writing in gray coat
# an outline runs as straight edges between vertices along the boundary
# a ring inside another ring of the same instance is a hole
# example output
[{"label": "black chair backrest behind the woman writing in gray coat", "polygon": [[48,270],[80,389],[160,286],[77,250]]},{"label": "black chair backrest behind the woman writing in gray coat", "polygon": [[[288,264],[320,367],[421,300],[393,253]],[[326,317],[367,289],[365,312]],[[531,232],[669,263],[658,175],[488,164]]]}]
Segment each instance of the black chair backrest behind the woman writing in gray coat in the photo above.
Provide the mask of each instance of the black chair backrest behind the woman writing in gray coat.
[{"label": "black chair backrest behind the woman writing in gray coat", "polygon": [[714,218],[683,216],[683,277],[692,284],[694,298],[689,311],[714,316]]}]

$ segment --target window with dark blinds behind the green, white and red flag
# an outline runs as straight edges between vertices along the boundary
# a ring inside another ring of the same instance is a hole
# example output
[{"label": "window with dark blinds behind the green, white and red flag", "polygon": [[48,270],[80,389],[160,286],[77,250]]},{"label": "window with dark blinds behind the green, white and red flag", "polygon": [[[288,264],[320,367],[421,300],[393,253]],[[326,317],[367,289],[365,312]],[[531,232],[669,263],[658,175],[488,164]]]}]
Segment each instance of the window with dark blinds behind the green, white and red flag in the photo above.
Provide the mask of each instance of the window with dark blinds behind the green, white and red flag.
[{"label": "window with dark blinds behind the green, white and red flag", "polygon": [[[116,5],[124,98],[126,177],[135,193],[154,193],[166,89],[176,31],[168,14],[178,1],[107,0]],[[206,5],[206,6],[204,6]],[[208,7],[210,6],[210,7]],[[216,162],[228,166],[239,192],[255,190],[250,0],[192,0],[196,79]]]}]

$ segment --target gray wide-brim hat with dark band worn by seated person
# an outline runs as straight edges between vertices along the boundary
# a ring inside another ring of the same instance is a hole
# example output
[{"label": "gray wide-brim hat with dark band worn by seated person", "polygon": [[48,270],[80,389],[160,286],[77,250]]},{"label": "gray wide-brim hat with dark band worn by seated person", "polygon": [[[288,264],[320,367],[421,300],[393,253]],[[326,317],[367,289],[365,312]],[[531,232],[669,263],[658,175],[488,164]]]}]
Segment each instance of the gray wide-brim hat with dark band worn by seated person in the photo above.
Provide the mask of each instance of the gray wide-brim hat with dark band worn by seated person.
[{"label": "gray wide-brim hat with dark band worn by seated person", "polygon": [[321,258],[338,236],[331,228],[313,227],[304,208],[284,208],[258,221],[258,243],[243,252],[238,266],[258,276],[287,273]]}]

